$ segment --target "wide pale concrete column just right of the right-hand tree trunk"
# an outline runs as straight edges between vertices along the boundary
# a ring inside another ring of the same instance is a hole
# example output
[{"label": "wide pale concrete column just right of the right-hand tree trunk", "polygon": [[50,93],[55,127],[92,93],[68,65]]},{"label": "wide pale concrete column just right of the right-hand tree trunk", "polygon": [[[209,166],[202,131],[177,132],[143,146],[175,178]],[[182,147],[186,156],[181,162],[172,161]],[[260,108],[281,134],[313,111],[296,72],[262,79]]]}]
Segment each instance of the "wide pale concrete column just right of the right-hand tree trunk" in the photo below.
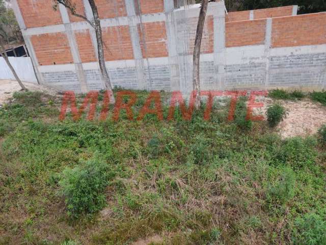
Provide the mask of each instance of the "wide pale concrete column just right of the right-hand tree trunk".
[{"label": "wide pale concrete column just right of the right-hand tree trunk", "polygon": [[225,88],[225,5],[218,2],[213,9],[214,18],[214,88]]}]

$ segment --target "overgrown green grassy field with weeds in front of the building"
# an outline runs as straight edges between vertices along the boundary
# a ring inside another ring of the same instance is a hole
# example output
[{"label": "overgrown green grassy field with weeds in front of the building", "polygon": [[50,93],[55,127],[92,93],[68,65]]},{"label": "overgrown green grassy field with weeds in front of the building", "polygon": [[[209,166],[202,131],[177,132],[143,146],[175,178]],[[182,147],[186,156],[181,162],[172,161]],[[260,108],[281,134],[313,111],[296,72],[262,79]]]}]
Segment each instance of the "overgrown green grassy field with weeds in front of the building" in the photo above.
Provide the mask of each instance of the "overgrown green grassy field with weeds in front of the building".
[{"label": "overgrown green grassy field with weeds in front of the building", "polygon": [[282,140],[245,101],[232,122],[228,100],[210,121],[60,122],[58,97],[15,93],[0,109],[0,244],[326,244],[326,134]]}]

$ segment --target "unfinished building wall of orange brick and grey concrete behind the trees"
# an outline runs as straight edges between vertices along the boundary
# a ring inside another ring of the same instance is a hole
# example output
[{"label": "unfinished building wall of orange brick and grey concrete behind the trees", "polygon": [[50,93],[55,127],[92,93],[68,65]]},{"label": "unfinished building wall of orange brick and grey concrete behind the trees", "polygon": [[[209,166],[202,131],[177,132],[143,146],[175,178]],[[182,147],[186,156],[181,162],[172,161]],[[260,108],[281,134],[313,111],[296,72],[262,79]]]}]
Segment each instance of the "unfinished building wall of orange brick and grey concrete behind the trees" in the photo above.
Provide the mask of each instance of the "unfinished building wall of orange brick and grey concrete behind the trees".
[{"label": "unfinished building wall of orange brick and grey concrete behind the trees", "polygon": [[[92,19],[87,0],[77,13]],[[199,5],[173,0],[96,0],[114,86],[192,89]],[[50,0],[13,0],[40,83],[86,92],[104,88],[93,28]],[[209,3],[201,47],[203,89],[326,86],[326,13],[297,6],[232,12]]]}]

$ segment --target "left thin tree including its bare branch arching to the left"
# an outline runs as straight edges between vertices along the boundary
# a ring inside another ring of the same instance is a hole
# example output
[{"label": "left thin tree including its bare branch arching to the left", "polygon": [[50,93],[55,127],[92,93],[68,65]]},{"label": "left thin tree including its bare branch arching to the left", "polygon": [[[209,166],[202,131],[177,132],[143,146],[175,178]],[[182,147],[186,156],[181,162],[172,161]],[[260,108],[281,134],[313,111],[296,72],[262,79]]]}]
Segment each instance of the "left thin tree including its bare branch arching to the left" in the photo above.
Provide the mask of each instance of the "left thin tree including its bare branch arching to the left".
[{"label": "left thin tree including its bare branch arching to the left", "polygon": [[106,67],[105,67],[102,29],[101,29],[100,19],[99,19],[99,16],[98,16],[98,11],[97,11],[95,1],[94,0],[88,0],[89,4],[91,6],[92,12],[93,12],[93,16],[94,16],[93,20],[89,20],[86,16],[76,13],[76,4],[73,3],[71,0],[53,0],[53,1],[55,2],[55,5],[53,6],[53,8],[55,8],[55,10],[57,10],[58,4],[62,4],[63,6],[65,6],[70,11],[70,13],[72,15],[84,19],[85,21],[87,21],[90,24],[90,26],[92,28],[94,28],[95,34],[96,34],[97,50],[98,50],[98,63],[100,65],[100,71],[101,71],[102,79],[104,80],[104,84],[105,84],[106,89],[111,92],[111,94],[112,94],[111,102],[114,103],[114,96],[113,96],[113,92],[112,92],[112,84],[111,84],[111,81],[110,81],[110,77],[108,77],[107,70],[106,70]]}]

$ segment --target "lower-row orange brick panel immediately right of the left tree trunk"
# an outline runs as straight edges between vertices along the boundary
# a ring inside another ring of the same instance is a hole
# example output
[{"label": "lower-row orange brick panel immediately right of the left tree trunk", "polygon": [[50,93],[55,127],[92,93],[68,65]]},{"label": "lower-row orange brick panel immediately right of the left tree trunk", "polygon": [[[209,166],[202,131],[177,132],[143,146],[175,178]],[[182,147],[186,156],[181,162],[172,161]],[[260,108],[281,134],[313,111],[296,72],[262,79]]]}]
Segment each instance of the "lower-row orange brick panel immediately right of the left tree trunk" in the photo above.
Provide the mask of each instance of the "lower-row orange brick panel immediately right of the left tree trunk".
[{"label": "lower-row orange brick panel immediately right of the left tree trunk", "polygon": [[102,28],[106,61],[133,59],[128,26]]}]

